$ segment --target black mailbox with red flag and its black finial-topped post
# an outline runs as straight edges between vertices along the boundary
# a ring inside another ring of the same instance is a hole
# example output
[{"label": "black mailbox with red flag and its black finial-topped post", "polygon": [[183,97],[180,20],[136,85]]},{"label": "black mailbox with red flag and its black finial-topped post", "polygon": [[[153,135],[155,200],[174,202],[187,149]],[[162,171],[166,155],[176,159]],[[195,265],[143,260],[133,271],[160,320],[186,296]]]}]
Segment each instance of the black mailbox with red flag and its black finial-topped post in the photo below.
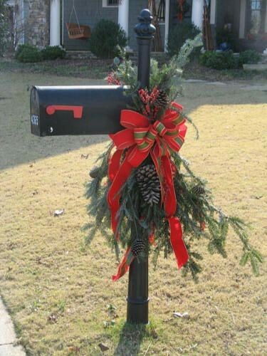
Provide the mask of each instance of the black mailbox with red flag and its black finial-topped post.
[{"label": "black mailbox with red flag and its black finial-topped post", "polygon": [[[150,86],[150,47],[155,27],[150,11],[142,10],[135,26],[138,80]],[[31,132],[37,136],[98,135],[123,129],[120,112],[132,99],[120,86],[54,86],[31,90]],[[148,256],[130,265],[127,322],[148,323]]]}]

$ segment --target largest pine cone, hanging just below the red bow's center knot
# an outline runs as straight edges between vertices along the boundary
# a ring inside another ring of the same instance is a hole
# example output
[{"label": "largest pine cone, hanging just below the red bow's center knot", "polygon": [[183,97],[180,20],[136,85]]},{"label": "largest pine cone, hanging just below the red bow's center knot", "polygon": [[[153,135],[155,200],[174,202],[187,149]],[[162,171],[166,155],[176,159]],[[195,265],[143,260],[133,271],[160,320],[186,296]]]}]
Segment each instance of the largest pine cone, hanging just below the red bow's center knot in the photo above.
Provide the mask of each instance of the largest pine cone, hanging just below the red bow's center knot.
[{"label": "largest pine cone, hanging just below the red bow's center knot", "polygon": [[160,182],[155,165],[146,164],[138,168],[136,178],[144,200],[150,205],[159,204]]}]

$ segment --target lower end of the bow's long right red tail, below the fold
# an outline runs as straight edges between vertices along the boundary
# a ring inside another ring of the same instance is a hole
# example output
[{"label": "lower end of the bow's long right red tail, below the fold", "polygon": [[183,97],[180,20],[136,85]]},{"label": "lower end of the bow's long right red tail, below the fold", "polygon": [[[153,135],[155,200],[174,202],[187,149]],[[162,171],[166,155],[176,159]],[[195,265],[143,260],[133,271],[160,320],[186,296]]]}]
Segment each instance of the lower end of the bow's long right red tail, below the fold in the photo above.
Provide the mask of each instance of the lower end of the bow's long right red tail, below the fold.
[{"label": "lower end of the bow's long right red tail, below the fold", "polygon": [[170,241],[177,260],[178,268],[182,268],[189,260],[187,247],[182,239],[182,225],[175,216],[169,217]]}]

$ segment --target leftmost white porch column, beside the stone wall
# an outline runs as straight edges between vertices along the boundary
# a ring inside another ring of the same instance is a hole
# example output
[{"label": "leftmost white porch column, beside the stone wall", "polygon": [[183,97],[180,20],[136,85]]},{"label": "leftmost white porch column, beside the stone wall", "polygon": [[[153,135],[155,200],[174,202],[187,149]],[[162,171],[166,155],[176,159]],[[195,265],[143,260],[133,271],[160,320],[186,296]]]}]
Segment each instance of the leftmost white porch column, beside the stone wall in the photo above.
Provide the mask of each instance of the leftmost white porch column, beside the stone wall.
[{"label": "leftmost white porch column, beside the stone wall", "polygon": [[50,46],[61,45],[61,0],[50,0]]}]

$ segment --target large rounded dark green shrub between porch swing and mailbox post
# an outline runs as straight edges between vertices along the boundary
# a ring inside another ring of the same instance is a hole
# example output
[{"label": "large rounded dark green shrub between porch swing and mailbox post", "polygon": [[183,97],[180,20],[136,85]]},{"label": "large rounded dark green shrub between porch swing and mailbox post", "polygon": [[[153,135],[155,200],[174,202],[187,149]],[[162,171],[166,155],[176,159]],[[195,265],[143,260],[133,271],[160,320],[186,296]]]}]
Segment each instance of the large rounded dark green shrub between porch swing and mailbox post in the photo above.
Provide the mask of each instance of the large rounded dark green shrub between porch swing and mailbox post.
[{"label": "large rounded dark green shrub between porch swing and mailbox post", "polygon": [[119,24],[100,20],[92,31],[89,40],[89,48],[95,56],[100,58],[114,58],[118,55],[117,46],[125,47],[127,43],[126,33]]}]

